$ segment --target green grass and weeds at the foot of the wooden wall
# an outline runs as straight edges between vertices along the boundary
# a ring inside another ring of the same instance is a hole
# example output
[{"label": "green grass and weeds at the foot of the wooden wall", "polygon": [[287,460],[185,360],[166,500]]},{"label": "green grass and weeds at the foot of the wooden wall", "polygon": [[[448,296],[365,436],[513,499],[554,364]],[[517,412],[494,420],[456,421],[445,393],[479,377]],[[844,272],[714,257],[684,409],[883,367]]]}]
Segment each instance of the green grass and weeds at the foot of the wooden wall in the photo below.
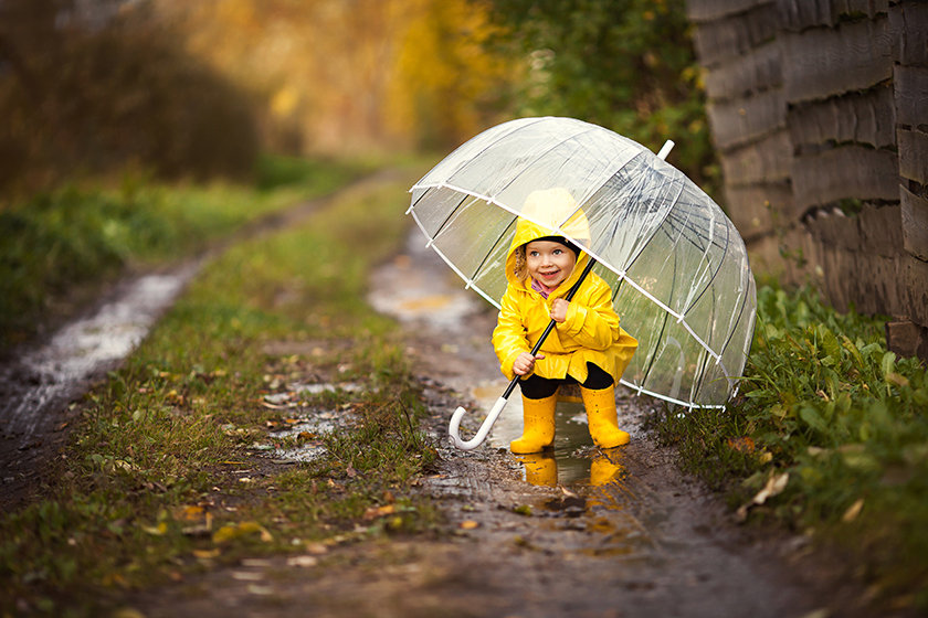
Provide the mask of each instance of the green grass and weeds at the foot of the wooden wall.
[{"label": "green grass and weeds at the foot of the wooden wall", "polygon": [[[873,598],[925,609],[928,377],[883,333],[880,320],[839,315],[812,289],[762,287],[737,402],[667,413],[658,428],[749,521],[840,548]],[[772,498],[753,502],[763,488]]]}]

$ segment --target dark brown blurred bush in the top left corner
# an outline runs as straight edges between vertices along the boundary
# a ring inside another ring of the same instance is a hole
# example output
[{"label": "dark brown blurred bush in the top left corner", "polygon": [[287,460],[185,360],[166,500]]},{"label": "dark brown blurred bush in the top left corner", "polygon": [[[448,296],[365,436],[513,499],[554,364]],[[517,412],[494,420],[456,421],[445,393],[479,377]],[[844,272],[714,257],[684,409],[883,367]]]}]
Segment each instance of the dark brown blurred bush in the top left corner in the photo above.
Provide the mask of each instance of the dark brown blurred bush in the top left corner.
[{"label": "dark brown blurred bush in the top left corner", "polygon": [[169,177],[250,173],[247,99],[181,50],[140,2],[3,0],[0,187],[127,163]]}]

